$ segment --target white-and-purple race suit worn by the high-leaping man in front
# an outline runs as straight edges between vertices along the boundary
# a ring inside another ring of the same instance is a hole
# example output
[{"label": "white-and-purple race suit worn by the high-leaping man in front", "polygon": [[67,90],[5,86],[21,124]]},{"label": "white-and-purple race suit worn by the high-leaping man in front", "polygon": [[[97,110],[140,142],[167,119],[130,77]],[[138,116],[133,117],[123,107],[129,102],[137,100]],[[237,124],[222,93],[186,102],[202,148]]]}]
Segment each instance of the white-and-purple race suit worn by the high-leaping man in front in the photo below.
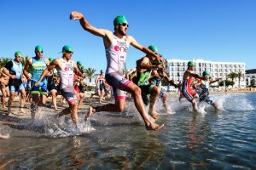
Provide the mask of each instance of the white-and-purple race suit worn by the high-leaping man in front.
[{"label": "white-and-purple race suit worn by the high-leaping man in front", "polygon": [[106,82],[113,87],[115,99],[125,99],[124,90],[131,82],[123,77],[129,42],[126,37],[119,39],[113,34],[112,44],[106,49],[107,70]]}]

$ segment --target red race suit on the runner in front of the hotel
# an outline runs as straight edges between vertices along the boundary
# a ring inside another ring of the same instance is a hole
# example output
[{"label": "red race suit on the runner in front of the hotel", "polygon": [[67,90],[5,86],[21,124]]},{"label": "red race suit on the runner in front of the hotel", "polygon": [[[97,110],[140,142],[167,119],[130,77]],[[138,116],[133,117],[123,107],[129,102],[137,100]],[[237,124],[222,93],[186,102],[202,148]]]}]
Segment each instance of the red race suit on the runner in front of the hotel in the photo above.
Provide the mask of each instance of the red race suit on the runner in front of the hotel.
[{"label": "red race suit on the runner in front of the hotel", "polygon": [[191,102],[194,99],[196,94],[195,89],[190,88],[191,82],[193,81],[193,77],[189,77],[189,79],[183,80],[183,96]]}]

